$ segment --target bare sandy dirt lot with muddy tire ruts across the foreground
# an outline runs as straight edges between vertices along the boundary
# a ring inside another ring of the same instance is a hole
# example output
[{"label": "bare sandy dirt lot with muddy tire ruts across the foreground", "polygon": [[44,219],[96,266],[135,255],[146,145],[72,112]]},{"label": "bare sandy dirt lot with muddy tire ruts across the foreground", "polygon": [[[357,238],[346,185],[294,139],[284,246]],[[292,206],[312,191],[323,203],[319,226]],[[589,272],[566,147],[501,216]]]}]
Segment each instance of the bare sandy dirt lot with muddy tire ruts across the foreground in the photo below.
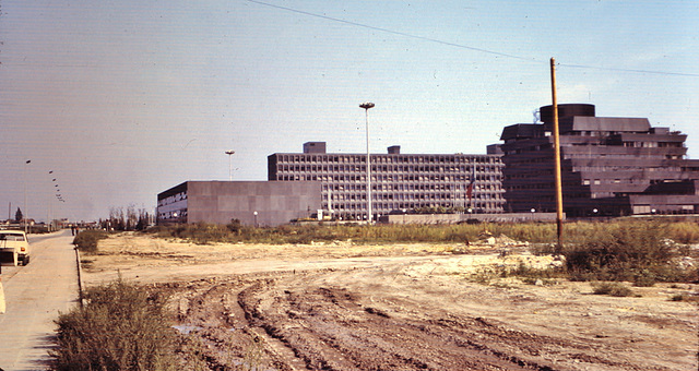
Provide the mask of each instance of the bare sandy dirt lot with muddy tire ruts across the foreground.
[{"label": "bare sandy dirt lot with muddy tire ruts across the foreground", "polygon": [[211,370],[697,370],[697,285],[592,295],[588,283],[502,278],[560,265],[528,247],[197,246],[133,234],[83,256],[170,295]]}]

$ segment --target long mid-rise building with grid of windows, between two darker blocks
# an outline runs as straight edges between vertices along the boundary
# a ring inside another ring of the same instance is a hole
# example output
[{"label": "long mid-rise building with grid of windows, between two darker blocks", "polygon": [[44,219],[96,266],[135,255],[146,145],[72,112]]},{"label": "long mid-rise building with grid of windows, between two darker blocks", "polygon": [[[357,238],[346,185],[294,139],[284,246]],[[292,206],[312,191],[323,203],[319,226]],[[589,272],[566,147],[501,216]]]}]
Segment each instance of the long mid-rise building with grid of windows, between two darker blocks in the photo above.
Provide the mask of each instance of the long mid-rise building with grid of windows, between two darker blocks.
[{"label": "long mid-rise building with grid of windows, between two darker blocks", "polygon": [[[465,213],[502,213],[502,161],[499,155],[371,154],[374,218],[423,207]],[[303,153],[268,157],[268,179],[322,184],[322,208],[335,218],[364,220],[368,216],[367,155],[327,153],[325,142],[308,142]]]}]

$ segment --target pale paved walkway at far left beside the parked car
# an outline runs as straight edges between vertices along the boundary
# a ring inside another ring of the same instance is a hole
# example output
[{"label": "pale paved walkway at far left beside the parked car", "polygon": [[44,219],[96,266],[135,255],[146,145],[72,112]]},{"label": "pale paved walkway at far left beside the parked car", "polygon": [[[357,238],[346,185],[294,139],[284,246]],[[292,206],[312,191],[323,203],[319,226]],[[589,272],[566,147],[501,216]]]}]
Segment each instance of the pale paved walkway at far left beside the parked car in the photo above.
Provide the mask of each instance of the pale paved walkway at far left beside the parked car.
[{"label": "pale paved walkway at far left beside the parked car", "polygon": [[70,230],[29,236],[29,264],[2,266],[7,312],[0,314],[0,369],[46,369],[54,321],[78,304],[72,241]]}]

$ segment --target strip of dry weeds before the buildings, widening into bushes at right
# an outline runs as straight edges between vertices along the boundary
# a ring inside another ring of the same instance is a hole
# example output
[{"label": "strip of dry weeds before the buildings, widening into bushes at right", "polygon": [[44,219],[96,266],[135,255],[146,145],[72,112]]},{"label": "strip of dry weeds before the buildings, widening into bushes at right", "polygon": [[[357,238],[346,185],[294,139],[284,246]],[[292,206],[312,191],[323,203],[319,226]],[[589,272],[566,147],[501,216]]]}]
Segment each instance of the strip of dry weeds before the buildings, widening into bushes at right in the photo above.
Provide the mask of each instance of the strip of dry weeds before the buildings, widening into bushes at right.
[{"label": "strip of dry weeds before the buildings, widening into bushes at right", "polygon": [[[699,225],[662,220],[615,220],[609,223],[569,223],[565,226],[562,251],[556,244],[553,224],[494,224],[478,225],[285,225],[274,228],[252,228],[232,220],[227,226],[191,224],[161,226],[151,232],[162,238],[178,238],[199,244],[270,243],[310,244],[311,242],[347,241],[355,243],[466,243],[476,241],[487,231],[490,236],[505,235],[531,243],[532,253],[545,255],[561,253],[565,270],[572,280],[632,282],[648,287],[662,282],[699,282],[699,270],[694,265],[680,268],[677,260],[697,255],[695,250],[675,243],[699,241]],[[460,250],[457,250],[460,251]],[[550,278],[546,272],[508,272],[507,274]],[[498,274],[501,274],[498,272]]]}]

